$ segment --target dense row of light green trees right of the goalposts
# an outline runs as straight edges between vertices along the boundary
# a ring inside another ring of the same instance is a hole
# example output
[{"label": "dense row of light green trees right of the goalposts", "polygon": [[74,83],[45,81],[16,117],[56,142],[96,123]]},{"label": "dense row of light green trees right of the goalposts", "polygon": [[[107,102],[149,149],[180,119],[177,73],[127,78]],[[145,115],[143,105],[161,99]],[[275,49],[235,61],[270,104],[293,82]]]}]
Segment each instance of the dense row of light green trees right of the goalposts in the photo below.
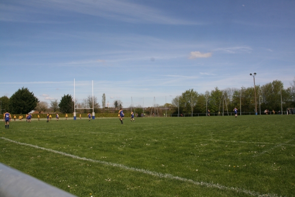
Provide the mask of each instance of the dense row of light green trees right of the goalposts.
[{"label": "dense row of light green trees right of the goalposts", "polygon": [[[275,112],[295,107],[295,79],[288,88],[281,81],[275,80],[264,85],[256,85],[256,105],[261,112],[266,109]],[[184,91],[172,100],[172,106],[179,108],[179,113],[222,112],[223,106],[229,112],[238,108],[241,112],[255,112],[254,87],[225,88],[215,87],[211,91],[198,93],[194,89]],[[178,113],[178,112],[177,112]]]}]

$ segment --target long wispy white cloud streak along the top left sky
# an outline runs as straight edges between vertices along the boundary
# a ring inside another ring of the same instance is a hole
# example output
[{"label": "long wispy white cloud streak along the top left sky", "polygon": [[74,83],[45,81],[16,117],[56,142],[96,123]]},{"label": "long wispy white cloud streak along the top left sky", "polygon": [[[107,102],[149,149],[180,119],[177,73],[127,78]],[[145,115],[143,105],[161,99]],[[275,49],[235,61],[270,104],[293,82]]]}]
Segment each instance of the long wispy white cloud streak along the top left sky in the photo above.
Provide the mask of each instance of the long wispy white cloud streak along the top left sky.
[{"label": "long wispy white cloud streak along the top left sky", "polygon": [[[21,4],[18,3],[18,5],[19,6],[10,4],[9,6],[5,5],[5,8],[1,8],[1,10],[7,10],[9,8],[10,12],[7,11],[5,16],[2,14],[0,20],[13,21],[18,18],[18,20],[24,21],[24,18],[28,18],[27,21],[32,22],[32,20],[29,20],[32,19],[32,17],[28,17],[30,13],[45,12],[46,14],[49,14],[50,10],[48,10],[48,8],[51,8],[61,11],[59,13],[60,15],[64,14],[62,11],[65,10],[128,23],[155,23],[170,25],[201,24],[194,21],[176,18],[155,7],[121,0],[26,0]],[[11,11],[13,11],[13,13],[17,16],[10,14]],[[22,13],[24,13],[26,17],[22,17]],[[57,12],[55,12],[55,14],[57,14]],[[35,21],[39,20],[35,19]]]}]

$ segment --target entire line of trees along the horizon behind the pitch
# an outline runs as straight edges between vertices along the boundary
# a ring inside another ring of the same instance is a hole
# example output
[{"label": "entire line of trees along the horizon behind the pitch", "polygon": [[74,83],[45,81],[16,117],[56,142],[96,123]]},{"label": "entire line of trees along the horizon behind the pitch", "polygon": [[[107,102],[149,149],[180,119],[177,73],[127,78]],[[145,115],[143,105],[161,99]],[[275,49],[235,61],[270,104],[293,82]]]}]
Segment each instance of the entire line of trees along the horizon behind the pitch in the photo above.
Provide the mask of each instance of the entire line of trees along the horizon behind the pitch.
[{"label": "entire line of trees along the horizon behind the pitch", "polygon": [[[275,80],[271,83],[264,85],[256,85],[256,105],[257,111],[259,106],[261,111],[266,109],[269,111],[280,111],[286,108],[295,107],[295,78],[290,83],[290,87],[284,88],[281,81]],[[39,113],[51,108],[54,113],[73,113],[76,108],[94,108],[95,113],[100,113],[106,110],[106,96],[102,95],[102,108],[98,103],[97,97],[88,96],[81,102],[77,99],[74,102],[72,95],[63,95],[58,99],[50,101],[49,104],[45,101],[39,101],[34,96],[33,92],[30,92],[28,88],[22,87],[18,89],[10,98],[7,96],[0,97],[1,112],[9,111],[14,114],[25,114],[32,110],[36,110]],[[74,106],[75,104],[75,106]],[[215,87],[211,91],[205,93],[198,93],[194,89],[188,89],[181,95],[175,97],[171,104],[167,104],[168,107],[177,108],[177,113],[206,113],[207,109],[211,113],[222,112],[222,106],[226,107],[231,112],[234,108],[239,109],[241,112],[255,112],[255,94],[254,87],[241,87],[238,88],[225,88],[219,89]],[[121,100],[115,100],[113,106],[117,109],[123,107]],[[159,106],[160,107],[160,106]],[[163,107],[166,107],[164,104]],[[141,109],[141,107],[135,107]],[[90,109],[81,109],[80,113],[88,113]]]}]

